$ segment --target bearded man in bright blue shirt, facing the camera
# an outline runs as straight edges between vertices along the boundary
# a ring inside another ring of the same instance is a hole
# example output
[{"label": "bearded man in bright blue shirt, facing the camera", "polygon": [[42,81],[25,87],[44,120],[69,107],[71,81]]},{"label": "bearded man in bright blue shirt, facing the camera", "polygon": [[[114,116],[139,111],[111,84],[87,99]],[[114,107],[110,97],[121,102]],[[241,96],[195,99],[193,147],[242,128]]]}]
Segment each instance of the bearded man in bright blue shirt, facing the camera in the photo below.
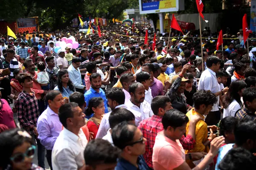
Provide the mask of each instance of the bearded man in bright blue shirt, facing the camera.
[{"label": "bearded man in bright blue shirt, facing the camera", "polygon": [[[86,103],[89,103],[93,97],[101,97],[104,101],[105,113],[108,113],[108,100],[106,99],[105,92],[100,88],[102,85],[102,79],[100,74],[93,73],[90,75],[90,89],[84,94]],[[145,90],[144,90],[145,91]]]}]

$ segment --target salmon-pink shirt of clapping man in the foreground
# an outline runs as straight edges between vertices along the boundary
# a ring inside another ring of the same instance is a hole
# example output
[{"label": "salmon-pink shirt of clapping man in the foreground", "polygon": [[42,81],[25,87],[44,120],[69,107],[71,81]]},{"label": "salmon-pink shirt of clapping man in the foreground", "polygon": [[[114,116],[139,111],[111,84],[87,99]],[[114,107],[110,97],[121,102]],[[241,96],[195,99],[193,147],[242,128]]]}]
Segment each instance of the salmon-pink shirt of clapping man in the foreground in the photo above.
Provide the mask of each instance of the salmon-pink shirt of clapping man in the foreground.
[{"label": "salmon-pink shirt of clapping man in the foreground", "polygon": [[163,131],[157,134],[153,147],[154,170],[173,170],[185,161],[185,152],[179,140],[174,142],[164,136]]}]

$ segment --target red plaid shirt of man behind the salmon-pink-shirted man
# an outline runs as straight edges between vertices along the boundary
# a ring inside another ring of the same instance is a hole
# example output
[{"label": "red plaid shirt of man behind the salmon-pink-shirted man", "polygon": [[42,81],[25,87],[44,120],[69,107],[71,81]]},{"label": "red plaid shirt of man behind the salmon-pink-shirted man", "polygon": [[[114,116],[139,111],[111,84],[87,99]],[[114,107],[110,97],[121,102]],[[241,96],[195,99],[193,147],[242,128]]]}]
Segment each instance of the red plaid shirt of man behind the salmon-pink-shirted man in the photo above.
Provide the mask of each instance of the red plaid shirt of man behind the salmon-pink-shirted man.
[{"label": "red plaid shirt of man behind the salmon-pink-shirted man", "polygon": [[[145,153],[143,155],[144,159],[148,164],[148,167],[153,169],[153,147],[157,133],[163,130],[162,116],[153,115],[148,119],[141,121],[138,128],[143,133],[143,136],[147,139],[147,142],[145,142]],[[195,145],[195,140],[190,135],[187,135],[186,137],[183,135],[180,139],[180,143],[185,150],[192,150]]]}]

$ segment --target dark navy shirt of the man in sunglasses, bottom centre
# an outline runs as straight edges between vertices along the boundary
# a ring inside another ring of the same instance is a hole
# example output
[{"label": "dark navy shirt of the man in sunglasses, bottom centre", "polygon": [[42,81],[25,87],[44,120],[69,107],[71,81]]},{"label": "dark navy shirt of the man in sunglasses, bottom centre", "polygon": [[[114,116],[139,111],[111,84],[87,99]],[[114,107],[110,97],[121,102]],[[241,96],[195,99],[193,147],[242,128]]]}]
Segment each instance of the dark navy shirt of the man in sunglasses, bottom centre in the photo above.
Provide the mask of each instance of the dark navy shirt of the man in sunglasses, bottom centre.
[{"label": "dark navy shirt of the man in sunglasses, bottom centre", "polygon": [[138,168],[123,158],[118,159],[115,170],[150,170],[145,159],[140,155],[137,159]]}]

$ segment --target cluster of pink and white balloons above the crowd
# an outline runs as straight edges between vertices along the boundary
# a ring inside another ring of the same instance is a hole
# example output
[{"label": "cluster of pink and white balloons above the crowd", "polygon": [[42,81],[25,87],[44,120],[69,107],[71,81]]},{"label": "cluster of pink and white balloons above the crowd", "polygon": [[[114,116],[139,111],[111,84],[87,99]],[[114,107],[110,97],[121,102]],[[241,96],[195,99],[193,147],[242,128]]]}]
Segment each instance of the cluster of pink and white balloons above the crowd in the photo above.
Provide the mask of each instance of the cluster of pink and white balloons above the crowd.
[{"label": "cluster of pink and white balloons above the crowd", "polygon": [[[61,41],[58,41],[58,42],[56,42],[56,48],[54,49],[54,51],[56,52],[58,52],[58,50],[59,49],[65,49],[66,47],[69,47],[69,48],[78,48],[78,46],[79,46],[79,43],[78,42],[76,42],[76,39],[75,39],[75,37],[69,37],[69,38],[67,38],[67,37],[63,37],[63,38],[61,38]],[[56,53],[57,53],[56,52]]]}]

